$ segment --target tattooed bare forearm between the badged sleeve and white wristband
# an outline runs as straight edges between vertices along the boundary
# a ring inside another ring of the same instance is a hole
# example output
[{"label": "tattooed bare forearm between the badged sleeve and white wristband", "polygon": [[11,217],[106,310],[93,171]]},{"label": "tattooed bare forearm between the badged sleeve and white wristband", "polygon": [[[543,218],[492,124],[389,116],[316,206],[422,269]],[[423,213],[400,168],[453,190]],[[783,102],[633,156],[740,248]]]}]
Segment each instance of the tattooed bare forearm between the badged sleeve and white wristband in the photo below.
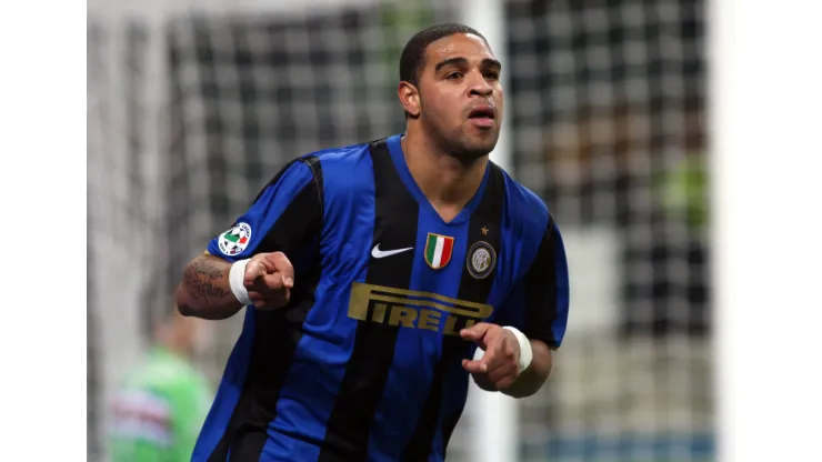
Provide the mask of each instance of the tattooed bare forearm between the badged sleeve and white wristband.
[{"label": "tattooed bare forearm between the badged sleeve and white wristband", "polygon": [[177,288],[177,307],[180,313],[197,318],[220,320],[240,311],[229,284],[231,262],[210,254],[202,254],[186,265],[182,282]]}]

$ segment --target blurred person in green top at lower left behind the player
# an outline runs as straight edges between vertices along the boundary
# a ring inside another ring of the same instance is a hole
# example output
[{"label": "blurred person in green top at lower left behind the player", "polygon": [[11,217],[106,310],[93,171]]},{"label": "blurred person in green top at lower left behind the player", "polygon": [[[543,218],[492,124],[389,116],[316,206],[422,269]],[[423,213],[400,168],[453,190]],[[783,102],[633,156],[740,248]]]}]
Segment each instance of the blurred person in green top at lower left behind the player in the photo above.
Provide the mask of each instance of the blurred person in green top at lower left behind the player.
[{"label": "blurred person in green top at lower left behind the player", "polygon": [[174,308],[154,325],[152,345],[126,374],[113,401],[112,462],[191,460],[213,399],[191,362],[199,323]]}]

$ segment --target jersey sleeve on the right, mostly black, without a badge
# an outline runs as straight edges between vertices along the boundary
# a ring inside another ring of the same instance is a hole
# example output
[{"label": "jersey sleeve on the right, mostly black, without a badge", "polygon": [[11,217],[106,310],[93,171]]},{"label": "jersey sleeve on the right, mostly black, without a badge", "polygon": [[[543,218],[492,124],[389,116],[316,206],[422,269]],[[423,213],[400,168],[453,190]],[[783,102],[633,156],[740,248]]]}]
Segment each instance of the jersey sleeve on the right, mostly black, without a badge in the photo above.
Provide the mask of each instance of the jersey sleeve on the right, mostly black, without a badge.
[{"label": "jersey sleeve on the right, mostly black, without a badge", "polygon": [[550,349],[562,344],[570,304],[568,261],[559,227],[549,215],[539,249],[508,301],[505,323]]}]

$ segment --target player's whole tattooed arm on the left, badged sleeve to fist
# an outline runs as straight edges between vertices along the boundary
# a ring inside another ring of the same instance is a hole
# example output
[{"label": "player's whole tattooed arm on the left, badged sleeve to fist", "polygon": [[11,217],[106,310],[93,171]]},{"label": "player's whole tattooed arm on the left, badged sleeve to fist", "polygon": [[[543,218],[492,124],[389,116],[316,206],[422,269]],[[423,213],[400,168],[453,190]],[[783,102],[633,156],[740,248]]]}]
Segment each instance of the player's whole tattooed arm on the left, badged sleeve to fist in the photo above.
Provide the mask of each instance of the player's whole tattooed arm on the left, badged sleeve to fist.
[{"label": "player's whole tattooed arm on the left, badged sleeve to fist", "polygon": [[[290,162],[231,229],[212,239],[208,251],[186,265],[176,297],[180,313],[221,320],[240,311],[241,300],[263,309],[288,302],[289,289],[295,282],[289,258],[312,249],[320,235],[319,169],[319,162]],[[231,273],[232,265],[244,260],[248,263],[242,274],[241,267]]]}]

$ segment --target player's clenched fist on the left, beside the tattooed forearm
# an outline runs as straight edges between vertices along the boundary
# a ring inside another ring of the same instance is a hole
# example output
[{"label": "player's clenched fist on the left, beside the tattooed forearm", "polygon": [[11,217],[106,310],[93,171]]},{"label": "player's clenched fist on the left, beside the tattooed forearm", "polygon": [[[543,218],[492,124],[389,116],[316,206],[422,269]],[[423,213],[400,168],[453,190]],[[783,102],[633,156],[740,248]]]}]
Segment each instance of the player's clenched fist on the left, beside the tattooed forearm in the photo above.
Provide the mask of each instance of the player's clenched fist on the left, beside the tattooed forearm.
[{"label": "player's clenched fist on the left, beside the tattooed forearm", "polygon": [[294,267],[282,252],[258,253],[245,264],[243,285],[255,308],[281,308],[291,300]]}]

